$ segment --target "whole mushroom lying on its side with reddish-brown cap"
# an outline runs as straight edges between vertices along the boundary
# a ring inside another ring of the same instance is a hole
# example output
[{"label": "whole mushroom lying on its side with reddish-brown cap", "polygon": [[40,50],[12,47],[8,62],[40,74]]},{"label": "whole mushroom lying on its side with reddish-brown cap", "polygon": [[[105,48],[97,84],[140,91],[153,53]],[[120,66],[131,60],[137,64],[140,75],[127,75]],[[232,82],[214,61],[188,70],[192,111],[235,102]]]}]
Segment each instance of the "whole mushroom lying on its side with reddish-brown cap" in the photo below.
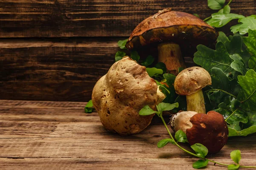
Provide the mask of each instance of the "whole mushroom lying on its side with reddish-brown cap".
[{"label": "whole mushroom lying on its side with reddish-brown cap", "polygon": [[186,133],[190,145],[201,143],[209,153],[217,153],[227,143],[227,123],[215,111],[207,114],[183,111],[172,115],[170,122],[172,130]]}]

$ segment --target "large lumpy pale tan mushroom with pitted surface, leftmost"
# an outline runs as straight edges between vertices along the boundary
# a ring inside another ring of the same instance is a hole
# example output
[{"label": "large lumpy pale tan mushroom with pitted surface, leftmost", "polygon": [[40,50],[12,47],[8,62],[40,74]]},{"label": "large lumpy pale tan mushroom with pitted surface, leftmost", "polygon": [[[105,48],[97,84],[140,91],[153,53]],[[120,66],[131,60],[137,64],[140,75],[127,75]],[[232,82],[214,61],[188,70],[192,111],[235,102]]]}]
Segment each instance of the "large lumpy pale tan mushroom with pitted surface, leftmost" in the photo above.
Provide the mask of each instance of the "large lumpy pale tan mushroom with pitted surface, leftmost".
[{"label": "large lumpy pale tan mushroom with pitted surface, leftmost", "polygon": [[123,57],[96,83],[92,101],[103,126],[125,136],[145,129],[154,114],[140,116],[140,109],[145,105],[155,109],[164,97],[144,66]]}]

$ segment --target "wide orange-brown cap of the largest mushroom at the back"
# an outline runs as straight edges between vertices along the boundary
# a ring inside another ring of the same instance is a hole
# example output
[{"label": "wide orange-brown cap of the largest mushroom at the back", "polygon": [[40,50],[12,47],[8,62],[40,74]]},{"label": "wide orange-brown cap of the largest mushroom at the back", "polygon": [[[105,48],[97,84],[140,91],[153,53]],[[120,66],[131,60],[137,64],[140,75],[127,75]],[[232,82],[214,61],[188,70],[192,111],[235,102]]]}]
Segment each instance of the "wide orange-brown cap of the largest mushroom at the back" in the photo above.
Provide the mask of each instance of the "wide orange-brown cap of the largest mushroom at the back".
[{"label": "wide orange-brown cap of the largest mushroom at the back", "polygon": [[[167,11],[167,12],[166,12]],[[218,37],[218,32],[203,20],[180,11],[164,9],[143,20],[131,33],[126,43],[129,50],[153,42],[171,41],[178,44],[200,42],[207,45]]]}]

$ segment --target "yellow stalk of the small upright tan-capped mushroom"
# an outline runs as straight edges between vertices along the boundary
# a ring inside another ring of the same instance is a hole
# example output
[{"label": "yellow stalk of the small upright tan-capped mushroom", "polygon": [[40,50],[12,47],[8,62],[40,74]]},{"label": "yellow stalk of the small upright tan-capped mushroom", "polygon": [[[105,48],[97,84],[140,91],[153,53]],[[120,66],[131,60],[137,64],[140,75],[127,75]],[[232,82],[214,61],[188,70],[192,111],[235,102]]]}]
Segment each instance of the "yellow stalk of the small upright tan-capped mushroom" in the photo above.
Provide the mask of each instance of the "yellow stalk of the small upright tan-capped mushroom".
[{"label": "yellow stalk of the small upright tan-capped mushroom", "polygon": [[204,94],[202,90],[198,90],[194,94],[186,96],[187,111],[195,111],[197,113],[206,113],[204,105]]}]

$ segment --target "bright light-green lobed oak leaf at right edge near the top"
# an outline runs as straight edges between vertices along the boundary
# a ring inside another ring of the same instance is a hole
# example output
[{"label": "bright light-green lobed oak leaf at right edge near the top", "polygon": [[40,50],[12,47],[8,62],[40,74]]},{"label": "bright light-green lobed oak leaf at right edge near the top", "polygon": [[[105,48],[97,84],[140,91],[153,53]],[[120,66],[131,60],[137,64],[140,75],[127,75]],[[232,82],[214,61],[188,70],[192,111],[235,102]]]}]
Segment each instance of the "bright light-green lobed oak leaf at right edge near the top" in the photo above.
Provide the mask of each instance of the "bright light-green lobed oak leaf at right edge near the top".
[{"label": "bright light-green lobed oak leaf at right edge near the top", "polygon": [[234,34],[239,31],[241,35],[248,33],[249,29],[256,30],[256,15],[242,18],[239,20],[239,24],[232,26],[230,29]]}]

